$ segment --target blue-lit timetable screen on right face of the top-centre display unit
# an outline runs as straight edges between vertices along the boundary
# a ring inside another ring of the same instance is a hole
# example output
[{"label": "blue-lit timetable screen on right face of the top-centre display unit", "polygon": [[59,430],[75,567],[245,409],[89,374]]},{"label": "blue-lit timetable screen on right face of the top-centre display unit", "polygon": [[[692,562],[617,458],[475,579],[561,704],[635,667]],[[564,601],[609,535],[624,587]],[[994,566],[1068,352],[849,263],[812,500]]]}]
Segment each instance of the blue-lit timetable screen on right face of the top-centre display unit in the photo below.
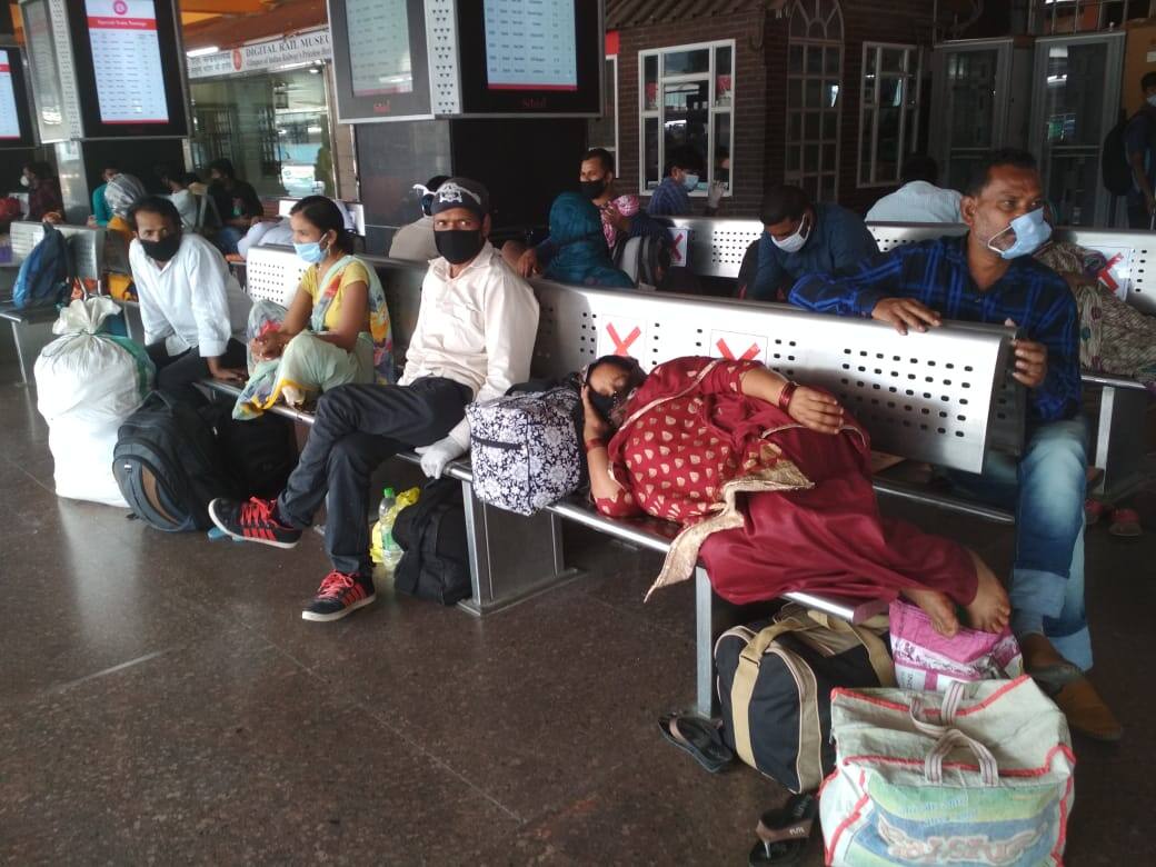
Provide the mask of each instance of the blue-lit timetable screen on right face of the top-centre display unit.
[{"label": "blue-lit timetable screen on right face of the top-centre display unit", "polygon": [[490,90],[578,90],[575,0],[483,0]]}]

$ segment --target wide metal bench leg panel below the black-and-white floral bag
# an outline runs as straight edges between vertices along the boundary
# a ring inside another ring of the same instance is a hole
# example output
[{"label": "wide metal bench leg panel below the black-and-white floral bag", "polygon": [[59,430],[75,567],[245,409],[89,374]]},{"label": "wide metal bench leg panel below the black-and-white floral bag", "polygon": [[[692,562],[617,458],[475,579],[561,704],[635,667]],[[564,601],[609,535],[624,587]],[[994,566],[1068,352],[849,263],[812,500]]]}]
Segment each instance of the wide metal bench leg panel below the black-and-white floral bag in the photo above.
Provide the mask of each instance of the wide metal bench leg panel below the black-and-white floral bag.
[{"label": "wide metal bench leg panel below the black-and-white floral bag", "polygon": [[461,483],[474,594],[459,607],[482,616],[571,580],[562,551],[562,521],[549,512],[525,518],[486,505]]}]

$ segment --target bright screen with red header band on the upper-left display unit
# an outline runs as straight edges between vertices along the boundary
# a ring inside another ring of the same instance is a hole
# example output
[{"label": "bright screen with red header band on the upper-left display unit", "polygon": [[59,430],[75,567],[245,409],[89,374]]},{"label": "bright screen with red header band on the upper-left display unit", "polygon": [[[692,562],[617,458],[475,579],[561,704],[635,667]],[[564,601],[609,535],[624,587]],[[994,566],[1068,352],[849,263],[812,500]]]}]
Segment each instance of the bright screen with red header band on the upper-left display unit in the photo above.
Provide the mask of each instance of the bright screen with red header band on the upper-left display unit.
[{"label": "bright screen with red header band on the upper-left display unit", "polygon": [[153,0],[84,0],[103,124],[168,124]]}]

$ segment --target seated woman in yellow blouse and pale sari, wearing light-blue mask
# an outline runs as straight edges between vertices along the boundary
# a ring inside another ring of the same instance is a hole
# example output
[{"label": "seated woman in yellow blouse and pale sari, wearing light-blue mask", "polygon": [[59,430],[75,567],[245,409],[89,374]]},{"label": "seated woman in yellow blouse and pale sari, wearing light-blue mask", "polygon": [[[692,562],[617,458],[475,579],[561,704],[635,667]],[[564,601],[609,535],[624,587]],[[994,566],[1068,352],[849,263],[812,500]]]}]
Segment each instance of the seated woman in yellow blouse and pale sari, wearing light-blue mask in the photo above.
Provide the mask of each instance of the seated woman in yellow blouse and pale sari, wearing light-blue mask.
[{"label": "seated woman in yellow blouse and pale sari, wearing light-blue mask", "polygon": [[249,317],[249,384],[235,418],[253,418],[279,399],[299,407],[347,383],[391,384],[393,335],[373,267],[353,255],[338,206],[307,195],[289,212],[294,247],[310,268],[287,311],[259,301]]}]

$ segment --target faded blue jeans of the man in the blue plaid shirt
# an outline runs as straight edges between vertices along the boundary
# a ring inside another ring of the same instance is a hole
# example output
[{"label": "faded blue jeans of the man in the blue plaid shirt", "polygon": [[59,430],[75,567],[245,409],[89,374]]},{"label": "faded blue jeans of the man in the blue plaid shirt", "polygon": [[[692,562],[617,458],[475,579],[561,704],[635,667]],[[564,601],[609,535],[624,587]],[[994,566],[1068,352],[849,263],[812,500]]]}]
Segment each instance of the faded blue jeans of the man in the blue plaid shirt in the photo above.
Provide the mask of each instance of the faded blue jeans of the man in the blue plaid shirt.
[{"label": "faded blue jeans of the man in the blue plaid shirt", "polygon": [[1081,416],[1029,428],[1018,461],[994,454],[983,475],[948,472],[961,491],[1015,510],[1013,631],[1042,632],[1084,669],[1092,661],[1084,616],[1087,467],[1088,425]]}]

